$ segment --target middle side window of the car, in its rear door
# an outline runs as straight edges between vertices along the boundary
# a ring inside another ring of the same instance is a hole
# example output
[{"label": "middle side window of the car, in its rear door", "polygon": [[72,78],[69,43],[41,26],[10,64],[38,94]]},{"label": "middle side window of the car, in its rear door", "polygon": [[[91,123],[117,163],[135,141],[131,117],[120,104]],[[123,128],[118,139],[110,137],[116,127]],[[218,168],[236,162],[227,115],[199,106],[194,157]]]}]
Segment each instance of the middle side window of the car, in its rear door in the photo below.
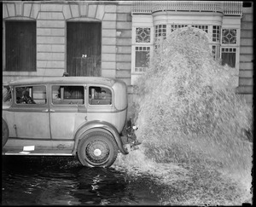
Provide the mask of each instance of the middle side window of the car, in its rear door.
[{"label": "middle side window of the car, in its rear door", "polygon": [[84,104],[84,86],[78,85],[53,85],[52,86],[52,103],[61,104]]}]

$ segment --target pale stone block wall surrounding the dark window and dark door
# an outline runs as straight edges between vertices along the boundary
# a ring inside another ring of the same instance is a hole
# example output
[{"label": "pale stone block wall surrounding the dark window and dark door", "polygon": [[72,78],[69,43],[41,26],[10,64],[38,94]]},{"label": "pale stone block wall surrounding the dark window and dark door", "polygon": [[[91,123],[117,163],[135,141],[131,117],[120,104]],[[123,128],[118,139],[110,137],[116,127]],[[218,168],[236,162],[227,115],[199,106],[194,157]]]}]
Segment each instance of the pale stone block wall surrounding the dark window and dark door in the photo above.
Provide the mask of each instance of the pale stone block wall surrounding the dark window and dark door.
[{"label": "pale stone block wall surrounding the dark window and dark door", "polygon": [[[36,72],[6,72],[3,64],[4,81],[37,76],[62,76],[66,72],[67,59],[66,23],[79,20],[102,22],[102,76],[119,76],[116,74],[117,58],[122,58],[117,55],[117,8],[118,3],[111,2],[4,2],[3,24],[4,20],[37,21]],[[129,81],[126,79],[125,83]]]}]

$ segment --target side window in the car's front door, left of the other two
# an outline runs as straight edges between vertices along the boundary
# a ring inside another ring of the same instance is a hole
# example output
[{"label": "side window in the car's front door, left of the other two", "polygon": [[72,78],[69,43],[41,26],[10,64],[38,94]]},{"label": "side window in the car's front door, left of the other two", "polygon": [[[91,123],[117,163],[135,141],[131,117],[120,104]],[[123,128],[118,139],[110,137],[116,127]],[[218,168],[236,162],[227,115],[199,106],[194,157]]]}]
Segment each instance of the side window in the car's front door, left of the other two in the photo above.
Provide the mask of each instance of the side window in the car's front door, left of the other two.
[{"label": "side window in the car's front door, left of the other two", "polygon": [[17,104],[46,104],[45,85],[15,87]]}]

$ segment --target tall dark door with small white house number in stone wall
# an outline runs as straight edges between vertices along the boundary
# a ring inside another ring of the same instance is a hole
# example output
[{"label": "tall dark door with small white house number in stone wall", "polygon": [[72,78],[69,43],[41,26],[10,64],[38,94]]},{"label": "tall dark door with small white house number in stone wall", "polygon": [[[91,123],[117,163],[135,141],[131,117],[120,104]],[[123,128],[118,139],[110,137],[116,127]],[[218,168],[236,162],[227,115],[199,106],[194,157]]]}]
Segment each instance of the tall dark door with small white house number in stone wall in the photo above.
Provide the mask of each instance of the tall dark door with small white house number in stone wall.
[{"label": "tall dark door with small white house number in stone wall", "polygon": [[101,76],[102,24],[67,22],[69,76]]}]

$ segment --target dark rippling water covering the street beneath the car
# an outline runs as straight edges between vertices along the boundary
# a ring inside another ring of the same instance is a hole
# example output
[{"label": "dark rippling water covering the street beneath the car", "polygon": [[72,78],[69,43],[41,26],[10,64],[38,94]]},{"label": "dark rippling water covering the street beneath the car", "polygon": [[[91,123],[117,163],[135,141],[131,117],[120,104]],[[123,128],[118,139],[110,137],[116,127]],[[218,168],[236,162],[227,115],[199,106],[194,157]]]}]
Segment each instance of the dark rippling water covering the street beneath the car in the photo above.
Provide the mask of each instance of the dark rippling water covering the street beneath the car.
[{"label": "dark rippling water covering the street beneath the car", "polygon": [[158,204],[147,175],[85,168],[76,158],[3,157],[2,205]]}]

